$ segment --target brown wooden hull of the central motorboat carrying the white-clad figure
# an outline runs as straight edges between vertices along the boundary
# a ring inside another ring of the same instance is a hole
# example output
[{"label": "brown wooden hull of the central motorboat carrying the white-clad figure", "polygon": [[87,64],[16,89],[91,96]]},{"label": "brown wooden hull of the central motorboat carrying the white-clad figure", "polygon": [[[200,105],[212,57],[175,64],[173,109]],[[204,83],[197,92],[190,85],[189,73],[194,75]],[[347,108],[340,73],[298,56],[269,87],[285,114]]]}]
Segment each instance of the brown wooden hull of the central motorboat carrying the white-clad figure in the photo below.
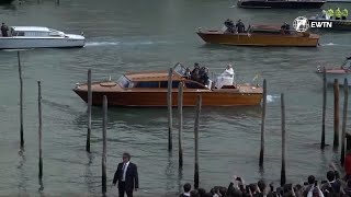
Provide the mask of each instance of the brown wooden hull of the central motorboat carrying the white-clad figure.
[{"label": "brown wooden hull of the central motorboat carrying the white-clad figure", "polygon": [[[87,103],[88,92],[73,89]],[[162,92],[92,92],[92,105],[101,106],[103,95],[107,96],[109,106],[165,107],[167,91]],[[229,93],[193,91],[183,92],[183,106],[195,106],[197,95],[202,95],[203,106],[250,106],[260,105],[262,93]],[[178,92],[172,92],[172,106],[177,106]]]}]

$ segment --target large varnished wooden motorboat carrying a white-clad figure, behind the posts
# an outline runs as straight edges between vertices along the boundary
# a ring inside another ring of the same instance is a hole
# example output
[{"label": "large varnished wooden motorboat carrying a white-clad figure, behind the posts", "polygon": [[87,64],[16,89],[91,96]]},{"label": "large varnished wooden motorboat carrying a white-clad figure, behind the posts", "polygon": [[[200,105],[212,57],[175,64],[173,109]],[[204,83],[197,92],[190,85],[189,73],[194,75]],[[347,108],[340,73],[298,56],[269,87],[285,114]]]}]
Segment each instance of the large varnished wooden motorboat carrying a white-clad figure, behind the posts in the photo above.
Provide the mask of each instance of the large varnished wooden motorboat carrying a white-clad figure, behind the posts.
[{"label": "large varnished wooden motorboat carrying a white-clad figure, behind the posts", "polygon": [[[217,77],[207,85],[185,77],[185,67],[177,63],[172,73],[172,105],[178,103],[178,85],[183,82],[183,106],[195,106],[202,95],[203,106],[260,105],[262,88],[251,84],[234,84],[234,77]],[[94,82],[91,85],[92,105],[102,105],[103,95],[110,106],[167,106],[168,71],[131,72],[116,82]],[[77,83],[73,91],[88,102],[88,84]]]}]

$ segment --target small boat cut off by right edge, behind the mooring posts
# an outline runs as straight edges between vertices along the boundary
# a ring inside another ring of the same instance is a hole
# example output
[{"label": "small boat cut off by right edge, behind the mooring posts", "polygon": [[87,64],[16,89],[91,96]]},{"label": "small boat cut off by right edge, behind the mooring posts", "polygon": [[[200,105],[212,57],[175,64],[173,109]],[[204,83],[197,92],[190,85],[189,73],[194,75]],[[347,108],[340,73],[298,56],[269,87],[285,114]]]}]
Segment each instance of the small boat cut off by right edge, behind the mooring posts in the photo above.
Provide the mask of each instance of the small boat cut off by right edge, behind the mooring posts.
[{"label": "small boat cut off by right edge, behind the mooring posts", "polygon": [[[321,79],[324,70],[320,66],[317,67],[316,72]],[[340,85],[343,85],[344,79],[348,79],[348,84],[351,86],[351,57],[348,57],[346,61],[339,68],[326,68],[327,84],[333,84],[335,79],[338,79]]]}]

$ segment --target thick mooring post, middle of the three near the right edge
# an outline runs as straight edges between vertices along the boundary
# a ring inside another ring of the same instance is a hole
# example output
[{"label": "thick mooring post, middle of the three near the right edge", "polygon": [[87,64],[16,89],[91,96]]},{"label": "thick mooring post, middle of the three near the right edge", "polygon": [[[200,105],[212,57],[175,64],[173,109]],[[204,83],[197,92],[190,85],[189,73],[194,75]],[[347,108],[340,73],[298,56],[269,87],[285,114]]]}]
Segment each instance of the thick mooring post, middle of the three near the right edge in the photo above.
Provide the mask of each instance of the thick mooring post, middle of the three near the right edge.
[{"label": "thick mooring post, middle of the three near the right edge", "polygon": [[339,82],[338,79],[333,81],[333,149],[339,147]]}]

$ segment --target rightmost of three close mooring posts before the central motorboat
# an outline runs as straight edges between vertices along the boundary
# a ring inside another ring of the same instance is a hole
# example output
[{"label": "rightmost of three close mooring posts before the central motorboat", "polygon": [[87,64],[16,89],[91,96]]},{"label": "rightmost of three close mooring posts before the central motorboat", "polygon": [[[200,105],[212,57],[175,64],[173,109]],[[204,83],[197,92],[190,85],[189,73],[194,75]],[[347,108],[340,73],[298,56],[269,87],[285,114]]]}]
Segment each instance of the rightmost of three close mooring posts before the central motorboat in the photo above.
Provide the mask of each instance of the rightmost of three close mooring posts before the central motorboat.
[{"label": "rightmost of three close mooring posts before the central motorboat", "polygon": [[194,125],[194,141],[195,141],[195,165],[194,165],[194,188],[199,188],[199,125],[200,125],[200,113],[202,105],[202,96],[197,95],[196,101],[196,117]]}]

